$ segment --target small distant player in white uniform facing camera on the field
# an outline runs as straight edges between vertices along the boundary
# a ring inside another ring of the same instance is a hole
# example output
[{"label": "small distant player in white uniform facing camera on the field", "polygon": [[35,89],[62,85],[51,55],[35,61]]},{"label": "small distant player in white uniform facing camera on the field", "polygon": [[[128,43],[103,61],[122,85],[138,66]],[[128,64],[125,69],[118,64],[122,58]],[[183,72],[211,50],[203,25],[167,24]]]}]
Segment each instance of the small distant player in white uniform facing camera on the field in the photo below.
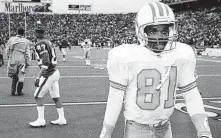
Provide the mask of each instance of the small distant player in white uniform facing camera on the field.
[{"label": "small distant player in white uniform facing camera on the field", "polygon": [[84,42],[82,43],[82,47],[84,49],[84,57],[85,57],[85,60],[86,60],[86,65],[91,64],[91,61],[90,61],[91,45],[92,45],[92,42],[91,42],[90,39],[85,39]]}]

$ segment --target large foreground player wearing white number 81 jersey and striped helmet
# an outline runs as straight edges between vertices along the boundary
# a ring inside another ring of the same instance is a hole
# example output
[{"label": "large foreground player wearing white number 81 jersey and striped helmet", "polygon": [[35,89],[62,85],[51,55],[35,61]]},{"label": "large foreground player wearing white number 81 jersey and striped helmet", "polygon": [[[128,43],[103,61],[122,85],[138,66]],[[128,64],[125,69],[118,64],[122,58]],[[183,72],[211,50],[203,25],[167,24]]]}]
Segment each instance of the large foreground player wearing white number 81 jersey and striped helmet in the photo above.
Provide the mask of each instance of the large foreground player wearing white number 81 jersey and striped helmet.
[{"label": "large foreground player wearing white number 81 jersey and striped helmet", "polygon": [[172,138],[170,116],[182,92],[198,138],[212,138],[194,71],[193,49],[176,42],[172,9],[161,2],[143,6],[135,18],[140,45],[108,53],[110,88],[100,138],[111,138],[124,101],[124,138]]}]

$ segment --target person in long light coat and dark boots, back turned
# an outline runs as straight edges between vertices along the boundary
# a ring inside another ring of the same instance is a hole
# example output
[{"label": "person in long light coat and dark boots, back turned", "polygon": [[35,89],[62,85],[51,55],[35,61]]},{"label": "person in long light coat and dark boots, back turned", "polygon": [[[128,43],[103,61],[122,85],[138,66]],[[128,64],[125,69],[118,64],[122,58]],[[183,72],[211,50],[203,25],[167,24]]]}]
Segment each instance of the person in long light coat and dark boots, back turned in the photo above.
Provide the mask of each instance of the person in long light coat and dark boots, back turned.
[{"label": "person in long light coat and dark boots, back turned", "polygon": [[8,77],[12,78],[11,95],[23,95],[26,68],[30,65],[30,42],[24,38],[25,30],[18,28],[17,35],[11,37],[6,44],[8,60]]}]

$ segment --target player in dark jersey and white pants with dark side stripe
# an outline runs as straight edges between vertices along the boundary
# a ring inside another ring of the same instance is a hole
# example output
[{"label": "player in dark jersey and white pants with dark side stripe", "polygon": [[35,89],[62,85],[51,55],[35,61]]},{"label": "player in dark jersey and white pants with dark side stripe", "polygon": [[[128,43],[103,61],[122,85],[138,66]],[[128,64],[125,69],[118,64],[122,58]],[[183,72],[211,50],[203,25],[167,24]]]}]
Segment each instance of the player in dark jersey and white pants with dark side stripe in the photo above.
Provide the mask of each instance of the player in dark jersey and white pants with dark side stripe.
[{"label": "player in dark jersey and white pants with dark side stripe", "polygon": [[64,109],[59,98],[60,94],[58,81],[60,78],[60,72],[56,68],[57,57],[55,54],[55,49],[51,42],[44,38],[44,30],[42,28],[37,28],[34,34],[37,38],[35,51],[40,66],[40,72],[35,80],[35,86],[37,88],[34,93],[37,103],[38,119],[34,122],[30,122],[29,125],[32,127],[43,127],[46,125],[44,118],[43,97],[48,92],[55,102],[58,112],[58,119],[51,121],[51,124],[65,125],[67,124],[67,121],[64,117]]}]

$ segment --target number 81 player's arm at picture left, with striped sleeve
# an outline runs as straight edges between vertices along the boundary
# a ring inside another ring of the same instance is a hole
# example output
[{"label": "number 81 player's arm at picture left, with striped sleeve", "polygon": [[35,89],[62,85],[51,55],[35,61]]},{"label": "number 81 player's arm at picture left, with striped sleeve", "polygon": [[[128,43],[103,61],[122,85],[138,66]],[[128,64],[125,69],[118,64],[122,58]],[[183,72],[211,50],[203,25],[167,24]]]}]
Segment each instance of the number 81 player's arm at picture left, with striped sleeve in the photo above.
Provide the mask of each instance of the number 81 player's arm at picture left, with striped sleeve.
[{"label": "number 81 player's arm at picture left, with striped sleeve", "polygon": [[111,138],[123,105],[127,87],[125,66],[109,52],[107,69],[110,80],[108,101],[100,138]]}]

